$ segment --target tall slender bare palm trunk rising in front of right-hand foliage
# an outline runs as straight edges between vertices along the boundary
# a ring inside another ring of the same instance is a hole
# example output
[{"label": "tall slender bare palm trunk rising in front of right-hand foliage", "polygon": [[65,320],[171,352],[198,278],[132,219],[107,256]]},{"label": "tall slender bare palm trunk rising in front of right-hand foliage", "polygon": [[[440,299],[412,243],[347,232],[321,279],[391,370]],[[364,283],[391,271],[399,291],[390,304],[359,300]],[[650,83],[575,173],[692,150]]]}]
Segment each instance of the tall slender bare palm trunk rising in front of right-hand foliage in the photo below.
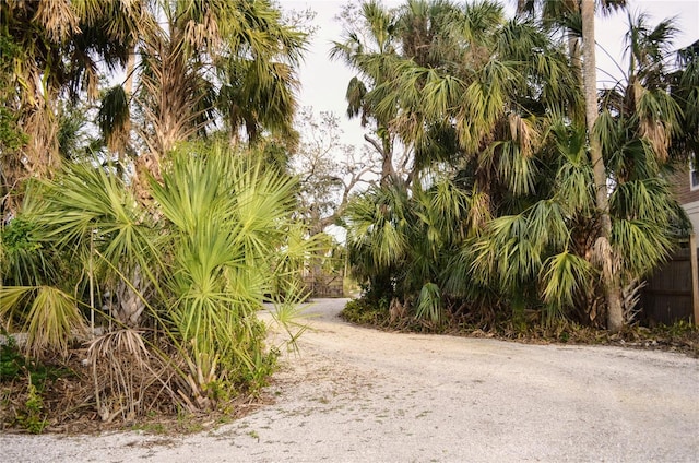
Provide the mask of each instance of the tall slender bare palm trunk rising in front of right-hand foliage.
[{"label": "tall slender bare palm trunk rising in front of right-hand foliage", "polygon": [[612,218],[607,198],[607,177],[602,157],[600,141],[593,135],[593,127],[597,120],[597,75],[594,41],[594,0],[582,0],[582,52],[583,52],[583,90],[585,95],[585,119],[590,138],[590,158],[594,171],[595,200],[600,213],[600,235],[595,242],[595,252],[602,264],[604,293],[607,302],[607,330],[615,333],[624,327],[621,309],[621,290],[614,272],[614,256],[609,238],[612,236]]}]

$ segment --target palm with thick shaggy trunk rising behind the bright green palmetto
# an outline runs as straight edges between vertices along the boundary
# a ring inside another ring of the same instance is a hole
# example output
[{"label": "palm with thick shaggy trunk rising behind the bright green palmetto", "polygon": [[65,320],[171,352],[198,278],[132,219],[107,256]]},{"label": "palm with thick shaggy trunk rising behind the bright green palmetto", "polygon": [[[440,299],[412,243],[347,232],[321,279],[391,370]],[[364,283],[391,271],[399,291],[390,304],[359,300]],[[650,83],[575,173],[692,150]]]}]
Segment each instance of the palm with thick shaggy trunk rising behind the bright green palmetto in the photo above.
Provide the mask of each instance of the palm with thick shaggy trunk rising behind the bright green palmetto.
[{"label": "palm with thick shaggy trunk rising behind the bright green palmetto", "polygon": [[[276,8],[269,1],[162,1],[152,3],[150,15],[166,24],[144,32],[134,44],[140,52],[133,99],[144,145],[138,157],[141,171],[159,177],[167,153],[216,130],[221,116],[234,145],[242,129],[251,142],[261,130],[291,136],[294,68],[306,35],[284,24]],[[107,94],[104,120],[118,122],[103,124],[107,139],[115,131],[129,136],[130,98],[126,88]],[[147,190],[144,179],[140,185]]]}]

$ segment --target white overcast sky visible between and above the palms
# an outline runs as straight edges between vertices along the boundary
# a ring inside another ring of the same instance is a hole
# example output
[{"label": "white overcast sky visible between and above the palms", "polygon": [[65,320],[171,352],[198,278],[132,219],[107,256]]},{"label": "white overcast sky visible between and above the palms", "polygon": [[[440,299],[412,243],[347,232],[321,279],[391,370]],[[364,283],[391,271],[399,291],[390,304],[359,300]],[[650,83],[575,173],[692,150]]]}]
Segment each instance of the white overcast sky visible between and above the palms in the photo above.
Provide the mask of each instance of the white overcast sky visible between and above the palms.
[{"label": "white overcast sky visible between and above the palms", "polygon": [[[342,26],[334,20],[343,4],[352,0],[277,0],[284,9],[311,9],[317,14],[315,23],[318,31],[309,45],[305,63],[300,69],[300,105],[312,106],[315,111],[333,111],[341,116],[345,132],[344,142],[354,145],[364,143],[359,121],[347,120],[345,115],[345,90],[354,73],[341,61],[331,61],[328,54],[332,40],[341,40]],[[358,2],[358,1],[357,1]],[[513,10],[514,0],[502,1]],[[388,7],[396,7],[403,1],[383,0]],[[697,0],[629,0],[629,10],[645,11],[650,14],[650,24],[655,25],[665,17],[677,16],[676,25],[679,34],[675,48],[685,47],[699,39],[699,1]],[[603,46],[617,62],[621,60],[623,37],[626,32],[626,13],[617,13],[611,17],[597,17],[595,33],[597,43]],[[597,68],[616,73],[616,66],[597,49]],[[621,66],[625,67],[624,64]],[[597,72],[597,79],[607,79]]]}]

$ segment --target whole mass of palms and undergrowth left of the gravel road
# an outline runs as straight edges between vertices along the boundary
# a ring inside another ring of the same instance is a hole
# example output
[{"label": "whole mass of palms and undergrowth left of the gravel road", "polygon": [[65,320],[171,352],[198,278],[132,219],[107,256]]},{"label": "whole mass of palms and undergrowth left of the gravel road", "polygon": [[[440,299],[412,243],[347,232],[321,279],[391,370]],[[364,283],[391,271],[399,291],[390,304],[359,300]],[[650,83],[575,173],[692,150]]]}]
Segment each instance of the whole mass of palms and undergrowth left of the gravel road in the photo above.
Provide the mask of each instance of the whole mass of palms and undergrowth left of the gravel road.
[{"label": "whole mass of palms and undergrowth left of the gravel road", "polygon": [[306,32],[265,1],[47,0],[0,33],[2,428],[239,413],[304,330]]}]

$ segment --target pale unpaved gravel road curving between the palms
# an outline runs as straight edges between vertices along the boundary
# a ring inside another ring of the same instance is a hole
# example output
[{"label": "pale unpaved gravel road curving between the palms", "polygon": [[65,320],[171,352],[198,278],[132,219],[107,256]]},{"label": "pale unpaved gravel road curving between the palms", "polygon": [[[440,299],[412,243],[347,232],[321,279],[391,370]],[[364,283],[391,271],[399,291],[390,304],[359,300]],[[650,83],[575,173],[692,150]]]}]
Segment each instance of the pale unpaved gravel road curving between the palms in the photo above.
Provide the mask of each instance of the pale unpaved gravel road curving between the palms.
[{"label": "pale unpaved gravel road curving between the palms", "polygon": [[0,436],[0,462],[696,462],[699,361],[383,333],[320,299],[270,390],[214,431]]}]

